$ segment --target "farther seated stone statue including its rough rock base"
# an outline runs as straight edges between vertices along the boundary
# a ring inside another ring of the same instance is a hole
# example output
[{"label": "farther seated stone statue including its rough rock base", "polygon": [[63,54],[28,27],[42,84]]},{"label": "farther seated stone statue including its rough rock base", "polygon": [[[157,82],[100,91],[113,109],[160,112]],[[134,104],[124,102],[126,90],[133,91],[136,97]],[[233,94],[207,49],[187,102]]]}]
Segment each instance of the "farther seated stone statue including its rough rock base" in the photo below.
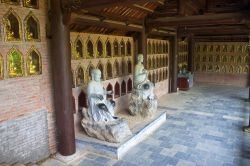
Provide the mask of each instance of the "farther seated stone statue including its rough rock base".
[{"label": "farther seated stone statue including its rough rock base", "polygon": [[148,72],[143,66],[143,55],[137,57],[134,71],[134,89],[131,94],[129,112],[132,115],[152,116],[157,110],[154,84],[148,80]]}]

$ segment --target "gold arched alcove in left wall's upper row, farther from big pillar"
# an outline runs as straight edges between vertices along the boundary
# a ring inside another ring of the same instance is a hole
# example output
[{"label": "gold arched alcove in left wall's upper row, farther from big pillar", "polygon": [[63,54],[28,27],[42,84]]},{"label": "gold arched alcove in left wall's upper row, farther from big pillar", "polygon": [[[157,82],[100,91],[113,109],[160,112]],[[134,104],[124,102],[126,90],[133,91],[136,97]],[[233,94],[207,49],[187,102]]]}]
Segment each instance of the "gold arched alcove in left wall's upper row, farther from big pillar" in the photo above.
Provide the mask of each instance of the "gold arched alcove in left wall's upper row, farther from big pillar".
[{"label": "gold arched alcove in left wall's upper row, farther from big pillar", "polygon": [[21,40],[21,24],[18,15],[10,9],[3,17],[6,41]]}]

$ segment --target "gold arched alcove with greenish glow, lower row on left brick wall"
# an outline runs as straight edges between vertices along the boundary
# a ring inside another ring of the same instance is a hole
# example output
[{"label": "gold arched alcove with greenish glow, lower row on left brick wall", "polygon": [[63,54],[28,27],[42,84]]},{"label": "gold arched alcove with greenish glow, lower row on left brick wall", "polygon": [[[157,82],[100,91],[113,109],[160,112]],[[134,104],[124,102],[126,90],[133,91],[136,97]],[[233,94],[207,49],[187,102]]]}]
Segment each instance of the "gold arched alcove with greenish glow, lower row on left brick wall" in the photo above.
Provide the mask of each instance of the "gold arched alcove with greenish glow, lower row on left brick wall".
[{"label": "gold arched alcove with greenish glow, lower row on left brick wall", "polygon": [[10,78],[24,75],[22,53],[15,48],[8,53],[8,75]]}]

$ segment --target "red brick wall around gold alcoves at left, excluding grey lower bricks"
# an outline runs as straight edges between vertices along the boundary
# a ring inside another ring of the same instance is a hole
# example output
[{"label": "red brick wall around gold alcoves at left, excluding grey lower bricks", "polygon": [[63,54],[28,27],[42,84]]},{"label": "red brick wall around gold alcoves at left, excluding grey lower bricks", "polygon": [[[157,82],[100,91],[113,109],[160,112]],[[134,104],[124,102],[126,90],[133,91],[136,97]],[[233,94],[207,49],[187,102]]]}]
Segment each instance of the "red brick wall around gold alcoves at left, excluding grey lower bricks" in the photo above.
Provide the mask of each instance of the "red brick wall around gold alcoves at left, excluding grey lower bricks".
[{"label": "red brick wall around gold alcoves at left, excluding grey lower bricks", "polygon": [[[39,9],[31,9],[20,6],[9,5],[0,2],[0,22],[3,16],[12,8],[19,16],[22,24],[22,40],[18,42],[5,42],[3,27],[0,34],[0,54],[4,59],[4,80],[0,80],[0,124],[7,120],[13,120],[20,116],[27,116],[32,112],[45,109],[48,111],[49,149],[51,153],[56,152],[54,107],[51,78],[51,64],[46,38],[47,4],[39,1]],[[38,18],[40,24],[40,42],[26,42],[24,39],[24,19],[32,11]],[[7,54],[12,47],[17,48],[23,54],[24,68],[26,66],[27,52],[34,46],[41,55],[42,74],[28,76],[24,70],[24,76],[19,78],[8,78]]]}]

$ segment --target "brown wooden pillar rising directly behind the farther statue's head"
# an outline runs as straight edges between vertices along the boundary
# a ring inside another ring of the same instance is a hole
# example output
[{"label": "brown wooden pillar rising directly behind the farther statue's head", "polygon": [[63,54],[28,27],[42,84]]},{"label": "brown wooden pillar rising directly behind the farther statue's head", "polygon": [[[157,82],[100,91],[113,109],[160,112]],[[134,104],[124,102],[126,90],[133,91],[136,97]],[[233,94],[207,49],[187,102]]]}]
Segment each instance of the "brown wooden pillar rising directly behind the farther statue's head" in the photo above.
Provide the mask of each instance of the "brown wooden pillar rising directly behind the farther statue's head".
[{"label": "brown wooden pillar rising directly behind the farther statue's head", "polygon": [[[144,67],[148,68],[148,55],[147,55],[147,33],[145,24],[143,24],[143,30],[140,32],[138,37],[138,53],[142,53],[144,57]],[[137,55],[136,55],[137,60]]]}]

